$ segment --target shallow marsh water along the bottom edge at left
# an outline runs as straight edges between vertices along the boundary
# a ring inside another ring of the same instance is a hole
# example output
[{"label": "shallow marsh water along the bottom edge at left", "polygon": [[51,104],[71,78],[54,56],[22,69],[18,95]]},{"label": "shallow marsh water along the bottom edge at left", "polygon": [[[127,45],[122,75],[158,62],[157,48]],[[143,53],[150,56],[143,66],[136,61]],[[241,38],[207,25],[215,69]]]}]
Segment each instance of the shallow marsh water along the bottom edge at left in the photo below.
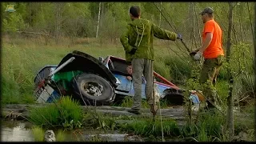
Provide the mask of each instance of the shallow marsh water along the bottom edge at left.
[{"label": "shallow marsh water along the bottom edge at left", "polygon": [[[1,121],[1,142],[35,142],[32,133],[32,124],[26,121]],[[55,133],[56,130],[54,130]],[[93,135],[108,136],[108,141],[125,141],[125,134],[118,134],[117,131],[104,130],[82,130],[80,133],[65,131],[64,142],[84,142],[92,140]],[[56,133],[55,133],[56,136]],[[111,140],[112,139],[112,140]],[[131,141],[141,141],[138,138],[130,138]]]}]

